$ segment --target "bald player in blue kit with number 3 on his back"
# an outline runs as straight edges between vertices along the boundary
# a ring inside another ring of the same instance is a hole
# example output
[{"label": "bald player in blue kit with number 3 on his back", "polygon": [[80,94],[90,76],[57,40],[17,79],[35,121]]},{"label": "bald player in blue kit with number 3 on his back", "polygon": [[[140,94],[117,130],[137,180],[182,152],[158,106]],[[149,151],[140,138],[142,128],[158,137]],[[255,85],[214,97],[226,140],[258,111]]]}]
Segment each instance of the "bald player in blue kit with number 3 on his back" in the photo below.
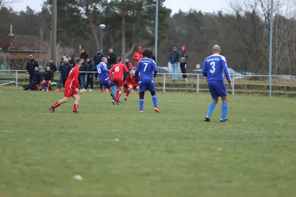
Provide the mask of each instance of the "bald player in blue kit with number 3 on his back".
[{"label": "bald player in blue kit with number 3 on his back", "polygon": [[229,83],[229,87],[232,88],[232,82],[228,72],[226,59],[224,56],[220,55],[221,49],[219,45],[213,46],[213,55],[206,58],[204,65],[202,67],[202,74],[207,77],[209,90],[211,92],[213,101],[211,102],[207,116],[205,118],[206,122],[210,122],[210,116],[215,109],[215,106],[219,100],[222,99],[222,115],[220,122],[228,123],[229,120],[226,119],[228,111],[228,101],[227,101],[227,91],[224,84],[223,70],[226,79]]}]

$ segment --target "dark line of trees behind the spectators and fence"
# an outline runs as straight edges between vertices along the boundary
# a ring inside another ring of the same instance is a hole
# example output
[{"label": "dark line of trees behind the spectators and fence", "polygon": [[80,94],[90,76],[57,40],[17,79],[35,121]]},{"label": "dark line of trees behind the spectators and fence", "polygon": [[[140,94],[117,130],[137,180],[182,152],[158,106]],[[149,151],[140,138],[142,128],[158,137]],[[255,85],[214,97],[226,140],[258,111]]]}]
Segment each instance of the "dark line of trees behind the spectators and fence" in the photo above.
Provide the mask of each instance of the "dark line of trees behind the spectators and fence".
[{"label": "dark line of trees behind the spectators and fence", "polygon": [[[203,65],[214,44],[221,45],[228,67],[236,71],[268,73],[269,0],[232,0],[227,10],[213,13],[189,10],[171,16],[159,0],[158,66],[167,66],[173,46],[189,53],[188,69]],[[293,2],[275,0],[273,74],[296,75],[296,19]],[[104,53],[132,58],[138,46],[154,49],[155,0],[61,0],[58,1],[57,39],[62,46],[79,44],[94,55],[100,48],[100,24]],[[51,0],[40,12],[30,7],[15,12],[0,6],[0,38],[9,33],[50,39]]]}]

